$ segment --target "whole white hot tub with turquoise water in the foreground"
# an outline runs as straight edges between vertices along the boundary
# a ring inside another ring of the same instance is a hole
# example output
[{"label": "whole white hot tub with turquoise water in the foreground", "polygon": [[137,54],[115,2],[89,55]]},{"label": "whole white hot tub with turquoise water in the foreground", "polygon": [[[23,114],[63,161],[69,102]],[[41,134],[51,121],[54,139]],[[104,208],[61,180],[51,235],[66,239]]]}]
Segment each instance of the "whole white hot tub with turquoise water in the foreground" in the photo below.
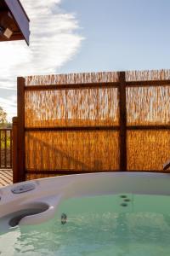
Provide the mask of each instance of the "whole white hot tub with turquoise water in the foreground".
[{"label": "whole white hot tub with turquoise water in the foreground", "polygon": [[170,255],[170,175],[115,172],[0,190],[2,255]]}]

